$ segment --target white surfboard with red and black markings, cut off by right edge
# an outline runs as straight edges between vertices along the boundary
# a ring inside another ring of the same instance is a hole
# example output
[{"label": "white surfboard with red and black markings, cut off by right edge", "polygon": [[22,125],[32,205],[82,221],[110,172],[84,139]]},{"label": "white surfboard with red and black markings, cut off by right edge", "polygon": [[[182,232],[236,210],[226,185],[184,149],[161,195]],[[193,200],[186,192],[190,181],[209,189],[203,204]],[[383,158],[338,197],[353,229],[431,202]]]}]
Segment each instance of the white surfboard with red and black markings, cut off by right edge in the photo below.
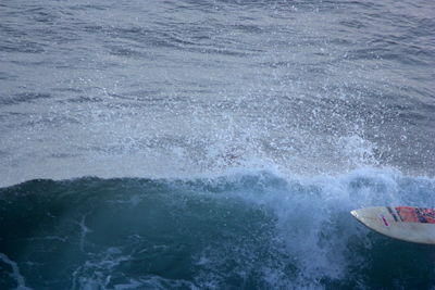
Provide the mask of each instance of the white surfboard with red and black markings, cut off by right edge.
[{"label": "white surfboard with red and black markings, cut off by right edge", "polygon": [[364,226],[408,242],[435,244],[435,210],[412,206],[374,206],[350,212]]}]

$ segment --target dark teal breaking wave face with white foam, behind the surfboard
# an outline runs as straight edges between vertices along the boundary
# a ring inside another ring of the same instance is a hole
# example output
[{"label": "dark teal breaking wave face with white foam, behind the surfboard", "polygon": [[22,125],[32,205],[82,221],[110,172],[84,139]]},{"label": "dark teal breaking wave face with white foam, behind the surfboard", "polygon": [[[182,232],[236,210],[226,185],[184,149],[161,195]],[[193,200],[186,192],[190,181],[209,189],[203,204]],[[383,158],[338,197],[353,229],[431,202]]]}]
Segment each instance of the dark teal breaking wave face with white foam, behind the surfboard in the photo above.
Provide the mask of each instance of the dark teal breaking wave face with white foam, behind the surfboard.
[{"label": "dark teal breaking wave face with white foam, behind the surfboard", "polygon": [[0,190],[0,282],[427,289],[435,285],[432,247],[370,231],[349,211],[434,204],[434,180],[373,169],[312,179],[257,172],[192,180],[32,180]]}]

